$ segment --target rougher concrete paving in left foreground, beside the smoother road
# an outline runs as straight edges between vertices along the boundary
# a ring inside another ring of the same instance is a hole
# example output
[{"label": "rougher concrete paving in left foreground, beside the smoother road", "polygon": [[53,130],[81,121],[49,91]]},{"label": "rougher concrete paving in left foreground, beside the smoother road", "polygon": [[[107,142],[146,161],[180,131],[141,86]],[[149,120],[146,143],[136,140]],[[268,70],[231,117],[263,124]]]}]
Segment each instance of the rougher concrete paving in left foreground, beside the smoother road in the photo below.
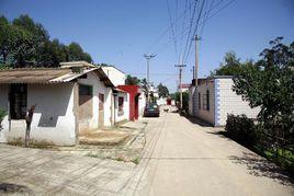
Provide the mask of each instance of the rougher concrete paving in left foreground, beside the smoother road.
[{"label": "rougher concrete paving in left foreground, beside the smoother road", "polygon": [[[0,195],[118,195],[135,164],[0,145]],[[5,192],[7,193],[7,192]]]}]

